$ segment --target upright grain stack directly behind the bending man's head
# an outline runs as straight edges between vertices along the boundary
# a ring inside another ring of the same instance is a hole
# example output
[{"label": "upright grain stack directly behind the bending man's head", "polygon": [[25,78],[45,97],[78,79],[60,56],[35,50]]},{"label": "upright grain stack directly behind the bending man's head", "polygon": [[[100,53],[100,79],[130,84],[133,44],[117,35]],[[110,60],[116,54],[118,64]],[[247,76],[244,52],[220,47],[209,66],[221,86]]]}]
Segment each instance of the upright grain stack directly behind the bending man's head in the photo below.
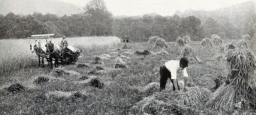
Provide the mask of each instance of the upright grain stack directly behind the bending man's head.
[{"label": "upright grain stack directly behind the bending man's head", "polygon": [[192,49],[192,47],[190,47],[189,45],[185,45],[180,53],[180,56],[177,58],[177,60],[180,60],[180,58],[182,57],[186,57],[189,60],[193,60],[196,59],[196,61],[198,61],[199,63],[202,63],[202,60],[196,56],[196,53],[194,52],[194,50]]}]

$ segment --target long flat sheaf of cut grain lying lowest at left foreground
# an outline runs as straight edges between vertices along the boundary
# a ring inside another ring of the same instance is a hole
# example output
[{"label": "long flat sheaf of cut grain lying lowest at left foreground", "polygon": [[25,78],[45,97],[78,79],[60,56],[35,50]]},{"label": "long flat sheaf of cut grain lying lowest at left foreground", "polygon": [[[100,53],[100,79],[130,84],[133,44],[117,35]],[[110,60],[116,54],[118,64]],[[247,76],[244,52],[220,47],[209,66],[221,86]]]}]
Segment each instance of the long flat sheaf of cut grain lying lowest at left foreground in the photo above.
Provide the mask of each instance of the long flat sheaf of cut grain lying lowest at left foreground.
[{"label": "long flat sheaf of cut grain lying lowest at left foreground", "polygon": [[74,91],[74,92],[62,92],[62,91],[52,91],[46,93],[48,99],[58,99],[58,100],[76,100],[76,99],[87,99],[90,97],[86,91]]}]

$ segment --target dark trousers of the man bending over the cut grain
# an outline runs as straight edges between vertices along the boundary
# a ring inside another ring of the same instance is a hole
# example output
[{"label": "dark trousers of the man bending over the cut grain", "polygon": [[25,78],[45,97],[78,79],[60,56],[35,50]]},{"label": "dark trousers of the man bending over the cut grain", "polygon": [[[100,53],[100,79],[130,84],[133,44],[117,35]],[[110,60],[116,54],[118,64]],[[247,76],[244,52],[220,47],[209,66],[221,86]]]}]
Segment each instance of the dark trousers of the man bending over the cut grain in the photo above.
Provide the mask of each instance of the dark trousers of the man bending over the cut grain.
[{"label": "dark trousers of the man bending over the cut grain", "polygon": [[[171,72],[163,64],[160,67],[160,90],[164,90],[168,78],[170,78],[170,80],[172,82],[173,90],[175,90],[175,87],[174,87],[174,84],[173,84],[173,80],[171,79],[171,76],[172,76]],[[178,90],[180,90],[180,87],[178,85],[178,81],[177,81],[177,86],[178,86]]]}]

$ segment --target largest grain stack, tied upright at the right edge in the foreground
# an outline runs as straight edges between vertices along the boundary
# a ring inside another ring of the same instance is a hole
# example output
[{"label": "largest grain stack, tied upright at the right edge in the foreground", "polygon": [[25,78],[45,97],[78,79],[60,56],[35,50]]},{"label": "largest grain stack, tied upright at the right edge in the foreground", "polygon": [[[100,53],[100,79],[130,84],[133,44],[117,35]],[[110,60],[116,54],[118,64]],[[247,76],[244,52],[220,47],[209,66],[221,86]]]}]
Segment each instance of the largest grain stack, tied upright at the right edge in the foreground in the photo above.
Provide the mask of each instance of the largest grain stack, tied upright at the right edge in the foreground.
[{"label": "largest grain stack, tied upright at the right edge in the foreground", "polygon": [[256,106],[256,58],[250,49],[229,49],[222,55],[227,62],[229,83],[222,84],[207,105],[214,109],[230,110],[244,101],[244,107]]}]

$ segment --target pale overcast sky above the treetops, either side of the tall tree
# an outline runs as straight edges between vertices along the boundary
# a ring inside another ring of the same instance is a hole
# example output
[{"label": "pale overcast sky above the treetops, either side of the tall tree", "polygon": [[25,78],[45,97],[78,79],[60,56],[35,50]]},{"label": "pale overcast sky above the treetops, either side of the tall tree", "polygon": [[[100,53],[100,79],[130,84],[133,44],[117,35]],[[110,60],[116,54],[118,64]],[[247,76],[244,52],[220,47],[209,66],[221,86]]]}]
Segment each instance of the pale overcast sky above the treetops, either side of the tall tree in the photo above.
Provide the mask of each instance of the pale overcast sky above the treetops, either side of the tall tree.
[{"label": "pale overcast sky above the treetops, either side of the tall tree", "polygon": [[[86,6],[90,0],[60,0],[79,6]],[[104,0],[106,7],[114,16],[138,16],[155,12],[162,16],[172,16],[176,10],[186,9],[215,10],[243,2],[256,0]]]}]

